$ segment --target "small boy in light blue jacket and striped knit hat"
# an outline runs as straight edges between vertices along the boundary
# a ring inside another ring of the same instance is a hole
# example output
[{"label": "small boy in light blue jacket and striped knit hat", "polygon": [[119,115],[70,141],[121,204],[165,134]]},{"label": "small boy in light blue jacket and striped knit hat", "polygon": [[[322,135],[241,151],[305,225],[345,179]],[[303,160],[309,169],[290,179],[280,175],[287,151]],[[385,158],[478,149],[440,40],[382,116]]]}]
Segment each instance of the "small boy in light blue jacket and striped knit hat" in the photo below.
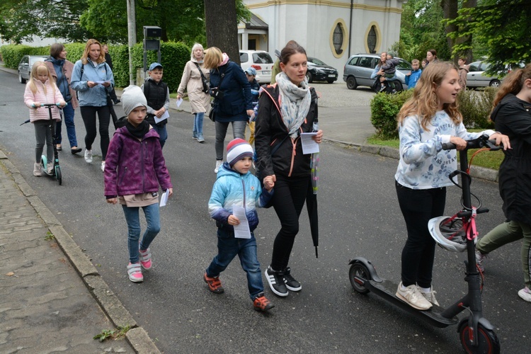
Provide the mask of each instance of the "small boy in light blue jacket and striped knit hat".
[{"label": "small boy in light blue jacket and striped knit hat", "polygon": [[[256,239],[253,230],[258,226],[256,206],[264,207],[273,195],[273,178],[264,178],[264,188],[251,169],[253,148],[244,139],[234,139],[227,144],[227,162],[217,172],[217,180],[212,187],[208,210],[217,225],[217,256],[212,259],[203,279],[208,289],[221,294],[224,289],[219,273],[227,268],[236,257],[240,258],[241,268],[247,274],[247,287],[256,311],[268,311],[274,307],[263,294],[262,274],[256,253]],[[233,214],[234,206],[244,207],[249,222],[249,238],[239,238],[234,234],[234,226],[240,220]]]}]

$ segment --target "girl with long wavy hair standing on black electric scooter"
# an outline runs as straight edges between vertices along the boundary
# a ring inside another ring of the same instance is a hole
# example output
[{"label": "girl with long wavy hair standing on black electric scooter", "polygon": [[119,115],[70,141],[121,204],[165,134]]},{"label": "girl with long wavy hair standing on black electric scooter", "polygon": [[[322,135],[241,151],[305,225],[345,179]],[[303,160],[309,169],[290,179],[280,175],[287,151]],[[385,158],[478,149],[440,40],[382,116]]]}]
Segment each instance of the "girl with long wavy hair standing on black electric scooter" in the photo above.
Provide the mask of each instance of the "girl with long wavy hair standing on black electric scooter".
[{"label": "girl with long wavy hair standing on black electric scooter", "polygon": [[446,187],[452,185],[448,176],[457,169],[455,150],[443,151],[442,144],[451,142],[462,150],[465,140],[487,134],[510,147],[509,138],[499,132],[467,132],[457,105],[460,89],[455,64],[432,62],[398,115],[400,161],[394,178],[408,237],[396,297],[421,310],[438,305],[431,285],[435,241],[428,221],[442,216]]}]

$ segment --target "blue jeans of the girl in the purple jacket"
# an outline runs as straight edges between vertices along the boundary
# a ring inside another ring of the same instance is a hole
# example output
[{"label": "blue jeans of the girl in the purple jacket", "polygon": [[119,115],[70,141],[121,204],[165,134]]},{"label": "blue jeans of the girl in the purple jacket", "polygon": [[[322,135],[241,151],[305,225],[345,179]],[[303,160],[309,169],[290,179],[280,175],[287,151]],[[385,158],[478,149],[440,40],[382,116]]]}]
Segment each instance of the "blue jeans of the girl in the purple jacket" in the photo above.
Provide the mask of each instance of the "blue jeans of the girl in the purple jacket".
[{"label": "blue jeans of the girl in the purple jacket", "polygon": [[147,249],[153,239],[161,231],[161,218],[159,215],[159,203],[142,207],[146,215],[147,229],[142,236],[142,243],[138,245],[140,239],[140,207],[127,207],[122,205],[125,221],[127,222],[127,248],[129,248],[129,261],[131,263],[139,262],[138,248]]}]

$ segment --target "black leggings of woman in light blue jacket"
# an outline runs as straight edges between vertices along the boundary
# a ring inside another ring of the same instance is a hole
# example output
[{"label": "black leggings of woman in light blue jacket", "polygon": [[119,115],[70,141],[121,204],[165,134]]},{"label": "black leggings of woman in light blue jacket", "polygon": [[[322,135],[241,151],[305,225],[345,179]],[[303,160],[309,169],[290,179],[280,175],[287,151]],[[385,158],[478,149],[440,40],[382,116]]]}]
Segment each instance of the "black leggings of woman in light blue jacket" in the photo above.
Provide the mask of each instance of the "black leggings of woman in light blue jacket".
[{"label": "black leggings of woman in light blue jacket", "polygon": [[96,113],[98,113],[98,120],[100,123],[100,146],[101,159],[105,161],[107,157],[107,150],[109,149],[109,120],[110,112],[107,105],[96,107],[94,105],[84,105],[79,108],[81,110],[81,118],[85,124],[85,148],[92,149],[92,143],[96,139]]}]

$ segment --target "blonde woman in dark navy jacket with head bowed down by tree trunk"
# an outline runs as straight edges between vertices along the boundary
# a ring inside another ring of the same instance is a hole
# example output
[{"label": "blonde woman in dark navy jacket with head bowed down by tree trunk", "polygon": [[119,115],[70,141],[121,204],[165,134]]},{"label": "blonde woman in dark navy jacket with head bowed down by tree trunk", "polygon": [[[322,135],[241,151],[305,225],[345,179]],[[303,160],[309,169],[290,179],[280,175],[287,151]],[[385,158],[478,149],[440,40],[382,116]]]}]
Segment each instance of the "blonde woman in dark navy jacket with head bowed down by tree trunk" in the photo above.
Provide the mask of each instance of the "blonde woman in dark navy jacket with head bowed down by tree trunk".
[{"label": "blonde woman in dark navy jacket with head bowed down by tree trunk", "polygon": [[214,96],[212,109],[216,117],[216,168],[223,164],[223,152],[227,127],[232,122],[234,139],[245,140],[245,127],[249,116],[253,115],[251,85],[241,67],[232,62],[227,54],[217,47],[205,52],[203,66],[210,69],[210,89]]}]

